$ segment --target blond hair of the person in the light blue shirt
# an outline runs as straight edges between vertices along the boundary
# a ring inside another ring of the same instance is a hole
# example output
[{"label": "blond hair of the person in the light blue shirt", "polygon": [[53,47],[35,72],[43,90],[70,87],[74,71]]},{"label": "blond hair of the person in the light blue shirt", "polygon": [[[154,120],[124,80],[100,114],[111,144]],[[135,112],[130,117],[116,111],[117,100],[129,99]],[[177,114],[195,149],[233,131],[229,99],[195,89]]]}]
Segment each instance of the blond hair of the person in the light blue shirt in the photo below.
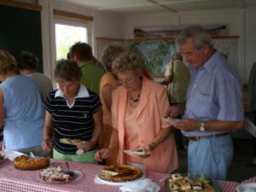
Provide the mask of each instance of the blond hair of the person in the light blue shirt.
[{"label": "blond hair of the person in the light blue shirt", "polygon": [[20,73],[15,57],[3,49],[0,49],[0,73],[3,75],[8,73]]}]

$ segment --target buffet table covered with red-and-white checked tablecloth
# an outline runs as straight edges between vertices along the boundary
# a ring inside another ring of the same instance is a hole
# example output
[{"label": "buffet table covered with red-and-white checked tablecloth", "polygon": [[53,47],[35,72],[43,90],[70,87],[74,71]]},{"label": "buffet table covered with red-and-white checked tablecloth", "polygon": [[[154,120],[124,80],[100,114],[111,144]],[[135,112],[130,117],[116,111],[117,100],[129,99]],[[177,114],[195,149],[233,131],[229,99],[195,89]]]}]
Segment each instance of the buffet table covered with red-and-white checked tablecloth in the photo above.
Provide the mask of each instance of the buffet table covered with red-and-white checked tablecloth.
[{"label": "buffet table covered with red-and-white checked tablecloth", "polygon": [[[64,161],[52,160],[51,166],[61,166],[66,168]],[[16,191],[35,191],[35,192],[81,192],[81,191],[119,191],[119,186],[110,186],[106,184],[95,183],[96,174],[101,172],[102,166],[81,164],[76,162],[69,162],[70,169],[73,171],[82,172],[83,177],[73,183],[49,184],[44,183],[38,177],[40,171],[20,171],[15,169],[13,162],[10,160],[3,160],[0,163],[0,190],[8,192]],[[169,177],[168,174],[158,172],[147,172],[146,177],[153,182],[160,185],[160,191],[166,191],[165,179]],[[251,178],[245,182],[256,182],[256,177]],[[223,192],[236,192],[236,186],[239,183],[219,181],[219,188]]]}]

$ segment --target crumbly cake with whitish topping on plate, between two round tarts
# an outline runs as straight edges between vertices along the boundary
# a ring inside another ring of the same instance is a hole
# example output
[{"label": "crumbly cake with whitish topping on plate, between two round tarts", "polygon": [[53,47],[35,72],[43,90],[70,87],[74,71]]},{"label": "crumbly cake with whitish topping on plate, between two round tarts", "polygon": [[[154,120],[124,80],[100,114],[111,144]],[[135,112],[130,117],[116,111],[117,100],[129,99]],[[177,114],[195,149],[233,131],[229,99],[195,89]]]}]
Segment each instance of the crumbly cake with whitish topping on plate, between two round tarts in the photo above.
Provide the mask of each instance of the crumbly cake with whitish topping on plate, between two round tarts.
[{"label": "crumbly cake with whitish topping on plate, between two round tarts", "polygon": [[39,177],[47,183],[68,183],[73,177],[61,171],[60,166],[52,166],[39,173]]}]

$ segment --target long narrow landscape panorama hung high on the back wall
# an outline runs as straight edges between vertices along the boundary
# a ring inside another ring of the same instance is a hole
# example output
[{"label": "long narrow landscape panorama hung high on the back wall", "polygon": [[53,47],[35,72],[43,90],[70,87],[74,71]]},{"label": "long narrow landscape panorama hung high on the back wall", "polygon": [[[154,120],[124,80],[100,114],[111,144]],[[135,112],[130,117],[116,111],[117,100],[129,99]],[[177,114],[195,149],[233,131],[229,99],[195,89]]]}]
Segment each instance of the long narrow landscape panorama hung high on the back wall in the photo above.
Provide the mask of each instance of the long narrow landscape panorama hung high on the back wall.
[{"label": "long narrow landscape panorama hung high on the back wall", "polygon": [[[199,25],[209,32],[212,37],[226,36],[224,24]],[[154,26],[134,28],[134,38],[176,38],[186,26]]]}]

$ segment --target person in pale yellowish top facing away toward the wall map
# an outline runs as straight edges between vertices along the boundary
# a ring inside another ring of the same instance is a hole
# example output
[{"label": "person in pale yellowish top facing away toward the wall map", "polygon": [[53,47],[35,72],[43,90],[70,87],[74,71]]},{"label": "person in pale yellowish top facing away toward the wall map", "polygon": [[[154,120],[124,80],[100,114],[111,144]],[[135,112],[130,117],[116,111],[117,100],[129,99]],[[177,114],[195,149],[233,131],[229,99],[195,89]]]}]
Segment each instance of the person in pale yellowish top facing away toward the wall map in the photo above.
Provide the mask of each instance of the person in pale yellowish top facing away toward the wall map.
[{"label": "person in pale yellowish top facing away toward the wall map", "polygon": [[[172,61],[166,66],[166,79],[162,82],[162,84],[167,85],[171,105],[185,102],[189,76],[189,68],[183,63],[183,55],[177,52],[174,53],[172,55]],[[181,119],[181,115],[177,116],[177,119]],[[183,140],[181,131],[174,130],[173,134],[177,148],[182,149]]]}]

